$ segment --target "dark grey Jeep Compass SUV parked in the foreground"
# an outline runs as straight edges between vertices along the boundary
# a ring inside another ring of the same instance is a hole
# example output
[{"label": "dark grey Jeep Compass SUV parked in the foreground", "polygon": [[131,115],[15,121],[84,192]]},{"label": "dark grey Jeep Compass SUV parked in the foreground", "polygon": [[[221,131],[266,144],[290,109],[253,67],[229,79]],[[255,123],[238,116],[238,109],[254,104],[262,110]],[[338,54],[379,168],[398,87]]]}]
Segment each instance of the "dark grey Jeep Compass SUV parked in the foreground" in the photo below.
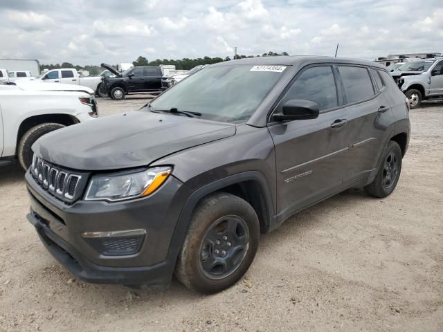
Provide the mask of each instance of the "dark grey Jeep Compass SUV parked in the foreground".
[{"label": "dark grey Jeep Compass SUV parked in the foreground", "polygon": [[175,272],[221,291],[292,214],[351,187],[388,196],[409,136],[408,102],[374,62],[222,62],[143,109],[37,140],[28,219],[88,282],[167,285]]}]

